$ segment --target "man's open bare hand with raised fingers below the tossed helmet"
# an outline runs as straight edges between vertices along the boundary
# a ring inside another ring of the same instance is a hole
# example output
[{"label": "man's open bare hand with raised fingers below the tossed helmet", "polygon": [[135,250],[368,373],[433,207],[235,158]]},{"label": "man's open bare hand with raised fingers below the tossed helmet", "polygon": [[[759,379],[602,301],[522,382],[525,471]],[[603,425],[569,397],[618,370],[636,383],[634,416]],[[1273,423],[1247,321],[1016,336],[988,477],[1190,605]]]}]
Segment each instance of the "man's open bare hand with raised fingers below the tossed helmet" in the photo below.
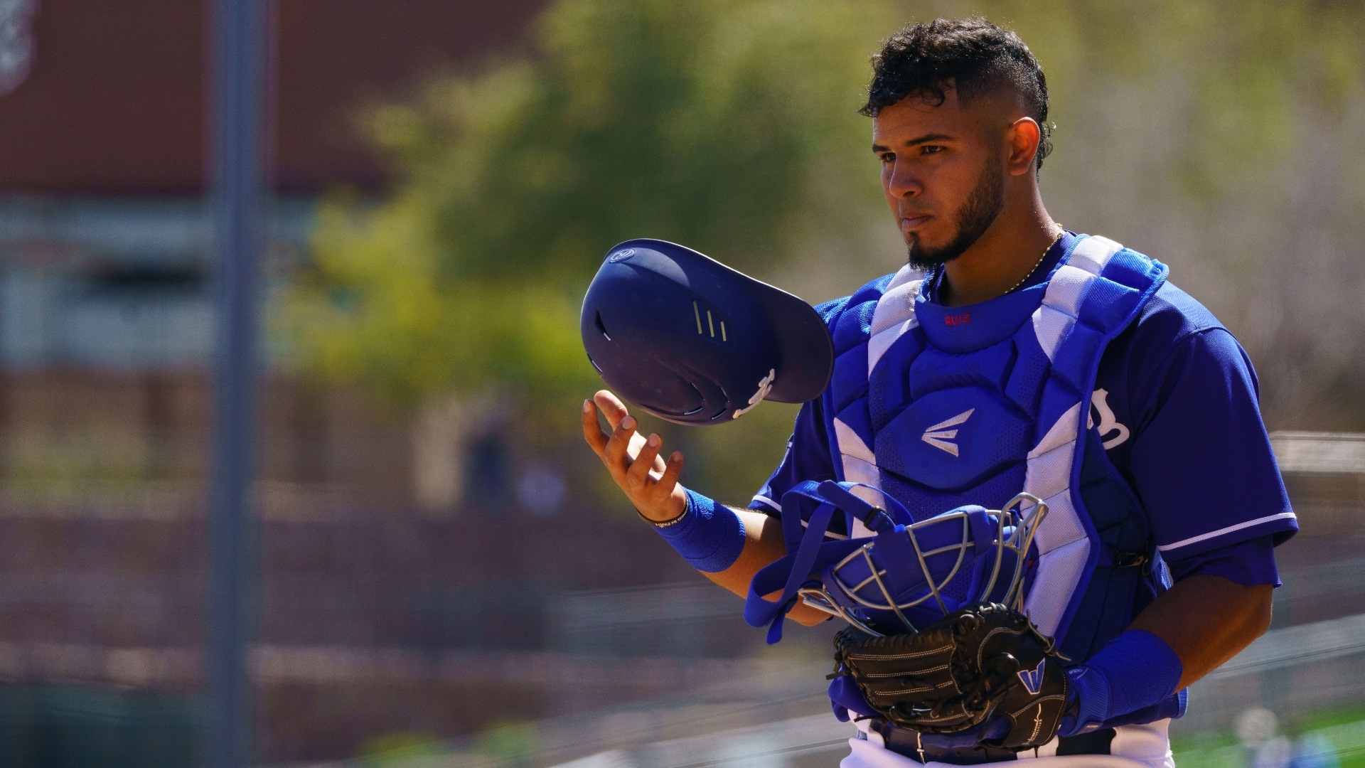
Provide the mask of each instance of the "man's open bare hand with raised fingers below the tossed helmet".
[{"label": "man's open bare hand with raised fingers below the tossed helmet", "polygon": [[[598,424],[598,409],[612,425],[610,435]],[[665,462],[659,456],[663,439],[658,435],[644,439],[635,430],[636,426],[625,404],[606,389],[591,400],[583,400],[583,439],[606,465],[612,480],[642,515],[657,522],[670,521],[687,508],[687,495],[678,485],[682,454],[673,451]]]}]

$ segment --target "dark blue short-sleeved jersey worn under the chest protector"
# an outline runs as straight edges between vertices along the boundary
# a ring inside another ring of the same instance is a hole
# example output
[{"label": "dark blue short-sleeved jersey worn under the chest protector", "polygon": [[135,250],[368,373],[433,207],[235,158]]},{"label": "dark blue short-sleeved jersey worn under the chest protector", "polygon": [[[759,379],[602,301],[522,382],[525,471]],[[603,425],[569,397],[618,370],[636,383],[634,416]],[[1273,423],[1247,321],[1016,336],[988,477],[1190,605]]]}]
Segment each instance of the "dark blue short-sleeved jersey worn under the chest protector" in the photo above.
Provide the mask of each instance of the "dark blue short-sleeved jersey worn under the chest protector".
[{"label": "dark blue short-sleeved jersey worn under the chest protector", "polygon": [[[1047,280],[1063,236],[1020,290]],[[931,272],[934,302],[942,275]],[[788,454],[749,504],[778,514],[803,480],[835,477],[826,414],[830,392],[797,415]],[[1163,284],[1104,350],[1091,424],[1115,471],[1136,492],[1175,579],[1215,574],[1278,584],[1272,547],[1297,530],[1257,404],[1250,359],[1203,305]],[[846,532],[844,532],[846,533]]]}]

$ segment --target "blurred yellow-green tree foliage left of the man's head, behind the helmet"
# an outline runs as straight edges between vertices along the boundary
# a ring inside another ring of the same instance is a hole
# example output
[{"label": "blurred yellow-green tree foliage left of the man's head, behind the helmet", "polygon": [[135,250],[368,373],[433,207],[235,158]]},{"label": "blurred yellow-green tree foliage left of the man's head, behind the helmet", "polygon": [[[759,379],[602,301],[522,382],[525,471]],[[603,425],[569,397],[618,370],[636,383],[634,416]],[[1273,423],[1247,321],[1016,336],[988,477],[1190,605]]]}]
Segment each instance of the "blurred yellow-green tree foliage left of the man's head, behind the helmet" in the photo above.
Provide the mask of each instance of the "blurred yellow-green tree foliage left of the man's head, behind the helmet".
[{"label": "blurred yellow-green tree foliage left of the man's head, behind the helmet", "polygon": [[399,182],[378,206],[324,206],[277,316],[292,362],[399,403],[497,391],[571,421],[598,384],[577,307],[613,243],[762,269],[876,200],[849,159],[893,26],[882,3],[551,4],[534,55],[367,113]]}]

